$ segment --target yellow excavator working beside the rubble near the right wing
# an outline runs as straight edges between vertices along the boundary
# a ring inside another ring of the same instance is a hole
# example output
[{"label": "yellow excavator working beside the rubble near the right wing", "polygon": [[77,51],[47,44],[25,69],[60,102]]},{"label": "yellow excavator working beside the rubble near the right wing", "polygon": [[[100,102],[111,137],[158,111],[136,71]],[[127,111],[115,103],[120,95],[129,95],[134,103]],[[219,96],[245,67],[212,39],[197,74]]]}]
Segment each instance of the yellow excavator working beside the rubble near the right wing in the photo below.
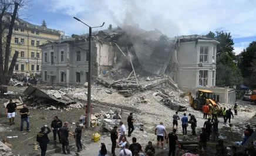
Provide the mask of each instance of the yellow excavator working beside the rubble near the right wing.
[{"label": "yellow excavator working beside the rubble near the right wing", "polygon": [[213,99],[213,91],[211,90],[198,90],[196,93],[196,99],[194,99],[191,95],[191,92],[187,92],[182,94],[181,97],[188,96],[190,106],[195,110],[202,110],[204,104],[211,104],[211,106],[217,106],[217,102]]}]

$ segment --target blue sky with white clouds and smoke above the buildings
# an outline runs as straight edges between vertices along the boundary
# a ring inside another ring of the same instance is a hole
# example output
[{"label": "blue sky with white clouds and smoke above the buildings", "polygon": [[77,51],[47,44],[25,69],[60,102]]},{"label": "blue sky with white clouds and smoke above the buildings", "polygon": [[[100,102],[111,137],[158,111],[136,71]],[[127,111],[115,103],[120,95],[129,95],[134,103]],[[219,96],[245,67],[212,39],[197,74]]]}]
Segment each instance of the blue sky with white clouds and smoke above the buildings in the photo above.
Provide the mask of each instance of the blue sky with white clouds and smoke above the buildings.
[{"label": "blue sky with white clouds and smoke above the buildings", "polygon": [[[25,20],[48,28],[63,30],[66,35],[87,33],[91,26],[107,29],[125,24],[142,29],[159,29],[167,36],[205,35],[210,30],[231,32],[235,53],[256,40],[255,0],[34,0],[26,8]],[[99,30],[99,29],[96,29]]]}]

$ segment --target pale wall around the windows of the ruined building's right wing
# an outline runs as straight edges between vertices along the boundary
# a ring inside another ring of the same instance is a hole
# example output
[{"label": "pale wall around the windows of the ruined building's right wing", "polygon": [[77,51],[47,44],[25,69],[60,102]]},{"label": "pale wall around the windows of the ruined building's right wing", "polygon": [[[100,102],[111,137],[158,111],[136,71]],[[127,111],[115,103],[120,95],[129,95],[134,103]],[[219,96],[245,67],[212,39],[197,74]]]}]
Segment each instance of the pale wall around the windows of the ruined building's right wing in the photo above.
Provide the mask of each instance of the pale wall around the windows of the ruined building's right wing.
[{"label": "pale wall around the windows of the ruined building's right wing", "polygon": [[[200,47],[208,46],[208,62],[200,63]],[[180,43],[177,60],[180,71],[177,72],[178,86],[183,89],[193,90],[199,86],[200,70],[208,71],[207,87],[215,86],[215,60],[213,63],[213,53],[215,43],[211,42],[183,42]],[[216,53],[215,53],[216,55]],[[214,58],[216,56],[214,55]],[[214,72],[213,72],[214,71]]]}]

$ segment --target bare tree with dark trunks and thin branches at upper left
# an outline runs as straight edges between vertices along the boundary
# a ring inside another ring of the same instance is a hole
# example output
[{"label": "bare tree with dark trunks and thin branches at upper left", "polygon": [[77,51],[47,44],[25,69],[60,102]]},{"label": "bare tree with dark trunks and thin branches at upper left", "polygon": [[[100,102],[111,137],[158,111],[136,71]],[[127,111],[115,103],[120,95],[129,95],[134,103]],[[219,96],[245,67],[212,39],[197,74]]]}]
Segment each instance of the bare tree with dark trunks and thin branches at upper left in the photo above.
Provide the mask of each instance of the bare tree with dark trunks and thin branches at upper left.
[{"label": "bare tree with dark trunks and thin branches at upper left", "polygon": [[[7,92],[7,86],[14,72],[14,66],[18,57],[18,52],[15,52],[12,57],[11,65],[9,63],[12,30],[14,29],[15,19],[18,11],[24,5],[28,4],[28,0],[0,0],[0,91],[1,94]],[[7,32],[6,42],[3,46],[3,36]],[[5,51],[5,53],[4,53]]]}]

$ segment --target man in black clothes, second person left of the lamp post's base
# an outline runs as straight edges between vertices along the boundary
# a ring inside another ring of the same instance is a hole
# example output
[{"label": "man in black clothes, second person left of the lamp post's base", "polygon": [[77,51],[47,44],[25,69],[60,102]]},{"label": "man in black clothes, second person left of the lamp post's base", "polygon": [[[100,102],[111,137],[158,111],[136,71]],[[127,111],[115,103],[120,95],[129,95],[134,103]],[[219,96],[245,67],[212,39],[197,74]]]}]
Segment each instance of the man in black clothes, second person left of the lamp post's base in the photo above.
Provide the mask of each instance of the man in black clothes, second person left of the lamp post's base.
[{"label": "man in black clothes, second person left of the lamp post's base", "polygon": [[64,126],[62,128],[60,128],[60,137],[61,137],[61,143],[62,143],[62,152],[63,154],[67,154],[65,151],[65,147],[66,150],[68,152],[68,154],[70,154],[70,150],[69,150],[69,135],[73,135],[68,128],[68,122],[64,123]]}]

